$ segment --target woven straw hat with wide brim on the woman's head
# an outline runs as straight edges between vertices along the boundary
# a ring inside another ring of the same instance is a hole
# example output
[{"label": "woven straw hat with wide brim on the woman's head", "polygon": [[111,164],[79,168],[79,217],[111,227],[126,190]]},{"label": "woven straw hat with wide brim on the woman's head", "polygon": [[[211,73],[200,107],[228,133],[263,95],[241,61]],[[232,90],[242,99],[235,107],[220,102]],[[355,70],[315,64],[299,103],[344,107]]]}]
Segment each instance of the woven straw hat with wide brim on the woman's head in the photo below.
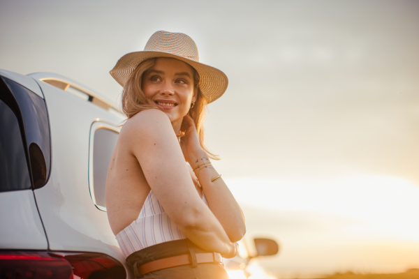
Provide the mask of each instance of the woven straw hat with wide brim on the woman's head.
[{"label": "woven straw hat with wide brim on the woman's head", "polygon": [[172,57],[191,65],[199,73],[200,90],[208,103],[220,98],[228,86],[226,74],[216,68],[199,63],[195,42],[184,33],[157,31],[148,40],[142,52],[125,54],[109,72],[124,86],[139,63],[153,57]]}]

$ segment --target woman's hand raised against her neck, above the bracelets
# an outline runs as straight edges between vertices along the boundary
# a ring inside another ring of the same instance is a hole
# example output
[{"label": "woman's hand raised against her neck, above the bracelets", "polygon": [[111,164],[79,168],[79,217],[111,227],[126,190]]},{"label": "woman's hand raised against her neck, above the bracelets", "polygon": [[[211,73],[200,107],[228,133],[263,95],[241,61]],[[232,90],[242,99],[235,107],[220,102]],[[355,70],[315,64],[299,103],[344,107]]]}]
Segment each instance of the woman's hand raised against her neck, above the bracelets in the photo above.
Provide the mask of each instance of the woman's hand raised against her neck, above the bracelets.
[{"label": "woman's hand raised against her neck, above the bracelets", "polygon": [[184,136],[180,138],[180,147],[184,158],[189,165],[196,165],[196,162],[193,162],[193,160],[201,156],[204,151],[200,147],[196,126],[189,114],[184,116],[180,130],[184,132]]}]

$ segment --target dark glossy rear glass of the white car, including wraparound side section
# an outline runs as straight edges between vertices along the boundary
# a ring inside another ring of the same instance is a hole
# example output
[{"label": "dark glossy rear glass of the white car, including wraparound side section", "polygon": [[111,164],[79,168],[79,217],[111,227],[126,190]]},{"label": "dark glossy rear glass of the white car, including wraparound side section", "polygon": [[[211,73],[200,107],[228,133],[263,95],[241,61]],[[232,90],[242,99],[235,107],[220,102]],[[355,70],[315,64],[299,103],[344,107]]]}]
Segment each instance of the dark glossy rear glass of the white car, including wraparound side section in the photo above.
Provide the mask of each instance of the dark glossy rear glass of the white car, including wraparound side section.
[{"label": "dark glossy rear glass of the white car, including wraparound side section", "polygon": [[1,191],[41,188],[51,154],[45,100],[6,77],[0,78],[0,100]]}]

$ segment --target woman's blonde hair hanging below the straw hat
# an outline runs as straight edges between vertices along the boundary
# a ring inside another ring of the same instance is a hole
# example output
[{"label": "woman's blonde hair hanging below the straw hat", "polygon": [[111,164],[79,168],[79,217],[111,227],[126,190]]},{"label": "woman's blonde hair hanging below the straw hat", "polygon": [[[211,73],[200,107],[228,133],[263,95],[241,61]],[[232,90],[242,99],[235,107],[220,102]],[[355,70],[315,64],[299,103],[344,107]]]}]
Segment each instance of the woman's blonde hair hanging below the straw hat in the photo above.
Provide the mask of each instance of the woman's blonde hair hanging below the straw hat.
[{"label": "woman's blonde hair hanging below the straw hat", "polygon": [[[150,58],[145,61],[142,61],[133,71],[131,77],[124,85],[122,90],[122,112],[126,114],[128,119],[130,119],[138,112],[149,109],[158,109],[159,107],[154,103],[149,103],[147,98],[145,98],[144,92],[142,92],[142,75],[154,66],[156,63],[156,58]],[[203,96],[203,93],[200,91],[199,82],[200,77],[198,72],[191,66],[193,69],[193,85],[198,88],[195,105],[189,110],[189,115],[192,117],[193,122],[196,126],[196,131],[198,133],[199,144],[201,148],[207,152],[208,156],[214,160],[219,160],[219,157],[214,155],[211,151],[205,146],[205,133],[204,133],[204,121],[207,108],[207,100]]]}]

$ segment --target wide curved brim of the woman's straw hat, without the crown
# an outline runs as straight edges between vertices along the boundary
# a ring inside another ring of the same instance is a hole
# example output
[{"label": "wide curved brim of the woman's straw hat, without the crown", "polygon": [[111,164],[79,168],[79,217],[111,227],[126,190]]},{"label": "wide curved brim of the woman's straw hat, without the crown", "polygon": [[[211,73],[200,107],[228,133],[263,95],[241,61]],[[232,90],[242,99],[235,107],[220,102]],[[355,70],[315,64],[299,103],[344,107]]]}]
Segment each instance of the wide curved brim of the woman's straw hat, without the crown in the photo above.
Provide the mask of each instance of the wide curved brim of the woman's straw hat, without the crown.
[{"label": "wide curved brim of the woman's straw hat, without the crown", "polygon": [[138,64],[154,57],[175,58],[192,66],[200,76],[199,87],[207,103],[212,103],[214,100],[220,98],[227,89],[228,77],[221,70],[167,52],[130,52],[122,56],[109,73],[119,84],[124,86]]}]

